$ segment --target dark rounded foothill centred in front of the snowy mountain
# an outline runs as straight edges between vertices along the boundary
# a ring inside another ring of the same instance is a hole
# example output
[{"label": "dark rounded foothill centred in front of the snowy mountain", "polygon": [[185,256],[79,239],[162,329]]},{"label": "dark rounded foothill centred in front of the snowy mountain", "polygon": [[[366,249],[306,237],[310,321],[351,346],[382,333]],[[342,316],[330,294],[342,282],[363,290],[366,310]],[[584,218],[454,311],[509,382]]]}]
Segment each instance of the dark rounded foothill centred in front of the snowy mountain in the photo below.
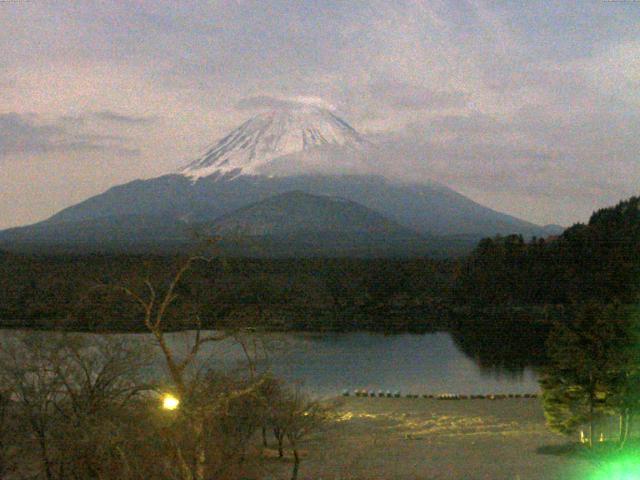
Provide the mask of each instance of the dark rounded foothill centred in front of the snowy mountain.
[{"label": "dark rounded foothill centred in front of the snowy mountain", "polygon": [[301,191],[223,215],[207,230],[233,238],[233,251],[257,256],[404,257],[432,249],[424,237],[363,205]]}]

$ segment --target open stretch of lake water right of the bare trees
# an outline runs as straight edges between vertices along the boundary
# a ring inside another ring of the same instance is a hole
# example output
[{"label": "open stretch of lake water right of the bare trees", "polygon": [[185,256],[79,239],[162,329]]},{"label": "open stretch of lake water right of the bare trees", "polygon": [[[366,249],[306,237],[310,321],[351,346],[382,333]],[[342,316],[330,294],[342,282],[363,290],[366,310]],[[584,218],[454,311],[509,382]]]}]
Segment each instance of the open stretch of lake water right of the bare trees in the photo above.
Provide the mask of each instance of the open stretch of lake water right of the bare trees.
[{"label": "open stretch of lake water right of the bare trees", "polygon": [[418,394],[538,391],[531,369],[488,374],[447,333],[288,335],[288,340],[290,350],[272,360],[274,371],[321,394],[356,388]]}]

